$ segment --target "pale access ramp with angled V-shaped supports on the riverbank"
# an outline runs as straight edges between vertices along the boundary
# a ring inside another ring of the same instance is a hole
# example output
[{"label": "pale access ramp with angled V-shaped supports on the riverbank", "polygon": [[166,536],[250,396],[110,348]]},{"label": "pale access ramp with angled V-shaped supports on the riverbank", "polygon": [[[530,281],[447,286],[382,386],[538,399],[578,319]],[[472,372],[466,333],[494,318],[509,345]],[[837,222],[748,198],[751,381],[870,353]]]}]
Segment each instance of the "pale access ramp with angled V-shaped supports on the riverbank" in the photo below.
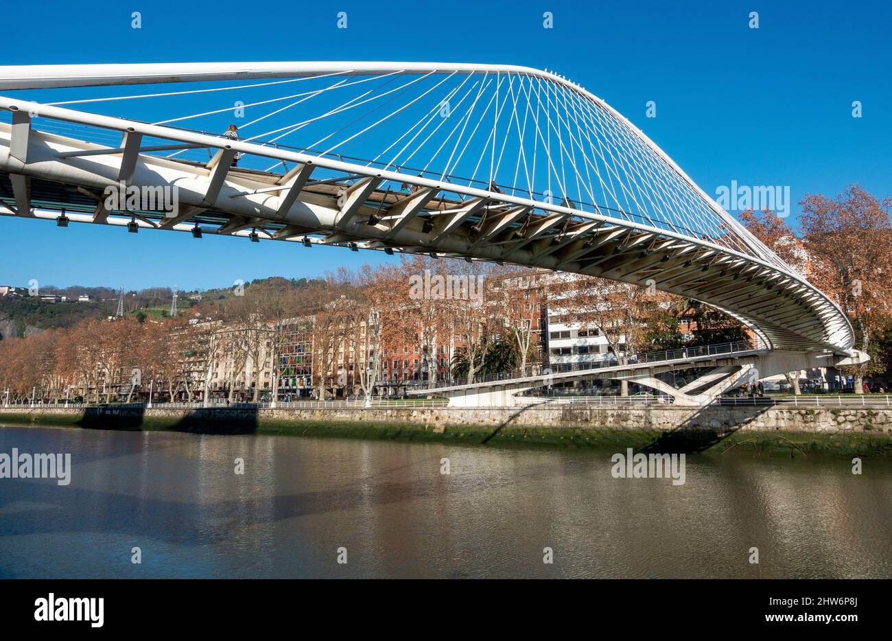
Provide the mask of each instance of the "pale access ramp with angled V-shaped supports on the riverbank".
[{"label": "pale access ramp with angled V-shaped supports on the riverbank", "polygon": [[[579,370],[524,379],[501,380],[494,383],[443,387],[433,390],[413,390],[412,395],[432,395],[449,399],[450,406],[510,407],[521,403],[518,396],[533,389],[557,382],[591,379],[626,380],[671,396],[674,405],[696,406],[712,403],[719,395],[744,384],[787,373],[820,367],[837,367],[866,361],[866,354],[847,357],[831,352],[765,352],[753,350],[748,354],[699,358],[686,362],[643,363],[617,365],[598,370]],[[660,374],[690,369],[707,368],[697,378],[681,387],[673,387]]]}]

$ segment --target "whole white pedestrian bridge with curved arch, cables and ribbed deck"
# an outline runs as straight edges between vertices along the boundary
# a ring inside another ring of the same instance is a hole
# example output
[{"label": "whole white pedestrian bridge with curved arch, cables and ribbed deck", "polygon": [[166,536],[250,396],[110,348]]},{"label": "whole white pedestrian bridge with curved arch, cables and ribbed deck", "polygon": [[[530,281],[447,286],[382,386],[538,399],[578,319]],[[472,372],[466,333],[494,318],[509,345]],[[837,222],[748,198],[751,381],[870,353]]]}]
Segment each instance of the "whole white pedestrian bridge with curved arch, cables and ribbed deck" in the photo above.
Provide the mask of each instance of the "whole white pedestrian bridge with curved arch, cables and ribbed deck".
[{"label": "whole white pedestrian bridge with curved arch, cables and ribbed deck", "polygon": [[[125,189],[136,200],[110,204]],[[598,276],[741,320],[765,354],[738,362],[866,358],[828,296],[623,115],[552,71],[0,67],[0,214]],[[764,375],[776,369],[762,365]]]}]

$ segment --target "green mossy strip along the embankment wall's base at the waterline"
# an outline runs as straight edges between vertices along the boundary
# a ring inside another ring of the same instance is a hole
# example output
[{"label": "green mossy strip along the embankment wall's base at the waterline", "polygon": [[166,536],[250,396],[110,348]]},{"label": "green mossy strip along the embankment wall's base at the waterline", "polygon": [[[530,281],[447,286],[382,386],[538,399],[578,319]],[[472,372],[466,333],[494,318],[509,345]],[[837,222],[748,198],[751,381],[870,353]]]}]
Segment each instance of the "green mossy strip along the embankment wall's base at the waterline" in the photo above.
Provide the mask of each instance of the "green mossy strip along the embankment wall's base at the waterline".
[{"label": "green mossy strip along the embankment wall's base at the waterline", "polygon": [[[862,412],[857,420],[859,429],[821,432],[811,426],[814,411],[789,412],[772,428],[748,423],[748,428],[731,427],[727,421],[710,426],[677,429],[641,428],[639,416],[630,420],[639,427],[622,429],[623,414],[615,413],[608,421],[594,420],[587,425],[555,424],[509,425],[505,423],[475,425],[473,412],[462,412],[450,424],[437,417],[434,422],[412,422],[419,415],[407,410],[402,420],[392,412],[366,416],[361,410],[344,415],[333,412],[332,420],[311,420],[299,412],[252,412],[244,410],[150,410],[143,412],[99,412],[91,410],[35,409],[0,410],[0,423],[47,427],[78,427],[123,430],[173,430],[206,434],[266,434],[277,436],[349,437],[392,441],[461,442],[468,445],[558,446],[581,449],[622,451],[628,447],[636,451],[688,452],[715,455],[750,454],[787,456],[882,456],[892,458],[892,433],[888,425],[877,425],[878,412]],[[632,410],[631,412],[634,412]],[[850,411],[849,411],[850,412]],[[826,412],[835,423],[836,412]],[[424,420],[429,415],[423,415]],[[489,415],[486,415],[489,418]],[[800,417],[801,430],[783,429]],[[361,417],[361,420],[358,418]],[[601,419],[603,417],[599,417]],[[630,417],[632,418],[632,417]],[[752,417],[745,417],[751,420]],[[447,416],[448,419],[448,416]],[[866,422],[865,422],[866,420]],[[459,424],[460,423],[460,424]],[[806,424],[807,423],[807,424]],[[618,429],[619,428],[619,429]]]}]

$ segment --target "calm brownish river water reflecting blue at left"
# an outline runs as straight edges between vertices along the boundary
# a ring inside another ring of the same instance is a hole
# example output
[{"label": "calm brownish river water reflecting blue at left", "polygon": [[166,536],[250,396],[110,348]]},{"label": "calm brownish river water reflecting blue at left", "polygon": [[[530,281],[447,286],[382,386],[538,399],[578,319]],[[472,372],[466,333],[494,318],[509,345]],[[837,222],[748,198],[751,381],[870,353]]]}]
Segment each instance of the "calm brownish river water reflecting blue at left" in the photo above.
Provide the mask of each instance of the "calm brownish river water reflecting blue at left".
[{"label": "calm brownish river water reflecting blue at left", "polygon": [[0,479],[4,578],[892,577],[883,460],[691,454],[674,486],[591,450],[0,427],[13,447],[71,473]]}]

